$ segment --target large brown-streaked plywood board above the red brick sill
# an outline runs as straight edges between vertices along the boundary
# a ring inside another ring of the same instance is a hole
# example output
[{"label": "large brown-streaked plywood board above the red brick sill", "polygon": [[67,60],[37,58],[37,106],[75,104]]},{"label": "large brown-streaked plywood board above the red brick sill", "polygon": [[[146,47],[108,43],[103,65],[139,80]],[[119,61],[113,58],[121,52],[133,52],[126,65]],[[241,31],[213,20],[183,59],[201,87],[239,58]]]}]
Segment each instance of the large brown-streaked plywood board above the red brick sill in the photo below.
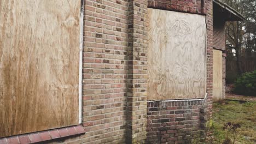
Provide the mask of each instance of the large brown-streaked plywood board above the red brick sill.
[{"label": "large brown-streaked plywood board above the red brick sill", "polygon": [[80,1],[0,0],[0,137],[78,124]]}]

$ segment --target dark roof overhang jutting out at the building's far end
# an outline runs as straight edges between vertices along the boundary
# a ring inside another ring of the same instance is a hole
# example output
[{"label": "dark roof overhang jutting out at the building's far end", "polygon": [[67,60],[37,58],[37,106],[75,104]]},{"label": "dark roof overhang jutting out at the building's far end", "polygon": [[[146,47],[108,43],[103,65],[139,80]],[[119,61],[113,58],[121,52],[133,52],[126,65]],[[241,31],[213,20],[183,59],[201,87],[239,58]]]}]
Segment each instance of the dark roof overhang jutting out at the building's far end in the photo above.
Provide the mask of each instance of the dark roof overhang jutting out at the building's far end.
[{"label": "dark roof overhang jutting out at the building's far end", "polygon": [[224,21],[242,21],[245,20],[240,13],[231,8],[228,4],[213,0],[213,15],[221,17]]}]

